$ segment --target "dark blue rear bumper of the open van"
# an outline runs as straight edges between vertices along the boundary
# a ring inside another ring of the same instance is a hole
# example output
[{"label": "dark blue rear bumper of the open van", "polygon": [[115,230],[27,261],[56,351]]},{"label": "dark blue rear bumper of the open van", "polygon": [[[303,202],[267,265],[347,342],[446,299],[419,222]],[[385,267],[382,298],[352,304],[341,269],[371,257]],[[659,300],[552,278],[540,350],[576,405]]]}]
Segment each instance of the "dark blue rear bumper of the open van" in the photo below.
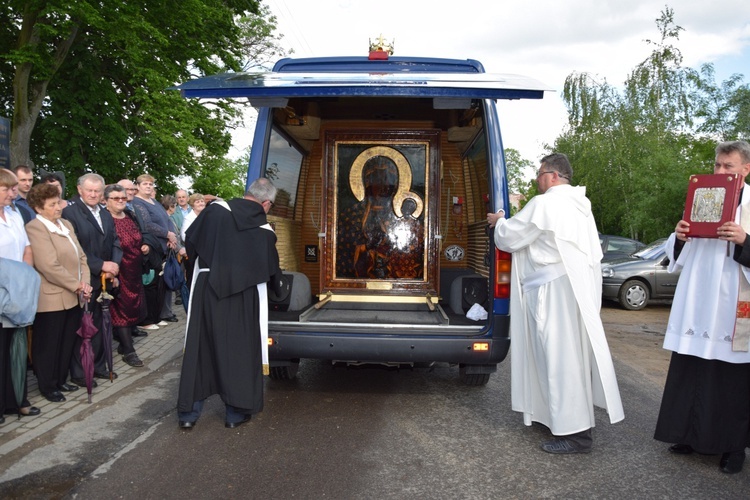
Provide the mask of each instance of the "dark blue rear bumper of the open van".
[{"label": "dark blue rear bumper of the open van", "polygon": [[[339,325],[341,326],[341,325]],[[299,358],[357,362],[447,362],[495,364],[505,359],[510,349],[509,317],[494,316],[489,332],[471,335],[440,335],[408,331],[387,333],[337,333],[275,330],[269,326],[270,361]],[[475,350],[476,342],[488,344],[487,350]]]}]

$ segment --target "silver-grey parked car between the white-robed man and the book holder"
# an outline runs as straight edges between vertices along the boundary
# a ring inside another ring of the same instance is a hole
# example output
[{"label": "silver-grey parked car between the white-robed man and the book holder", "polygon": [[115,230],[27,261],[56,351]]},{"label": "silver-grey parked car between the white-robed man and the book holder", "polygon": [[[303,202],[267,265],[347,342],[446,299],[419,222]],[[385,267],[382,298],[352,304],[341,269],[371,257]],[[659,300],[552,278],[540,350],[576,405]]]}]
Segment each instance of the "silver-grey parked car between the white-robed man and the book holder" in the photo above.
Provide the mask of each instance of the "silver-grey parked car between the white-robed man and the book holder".
[{"label": "silver-grey parked car between the white-robed man and the book holder", "polygon": [[667,272],[666,238],[651,243],[631,257],[602,262],[602,298],[625,309],[643,309],[651,299],[671,299],[680,273]]}]

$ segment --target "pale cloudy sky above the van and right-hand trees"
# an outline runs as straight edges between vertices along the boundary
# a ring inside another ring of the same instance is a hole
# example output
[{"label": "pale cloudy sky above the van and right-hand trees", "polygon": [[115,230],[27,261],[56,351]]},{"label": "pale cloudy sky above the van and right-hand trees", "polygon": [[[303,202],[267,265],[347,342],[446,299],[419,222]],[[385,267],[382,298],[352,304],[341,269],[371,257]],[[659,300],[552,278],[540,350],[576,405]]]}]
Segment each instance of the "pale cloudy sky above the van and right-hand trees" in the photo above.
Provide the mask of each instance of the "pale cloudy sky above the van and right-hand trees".
[{"label": "pale cloudy sky above the van and right-hand trees", "polygon": [[669,5],[685,31],[684,65],[711,62],[719,80],[750,81],[750,0],[263,0],[292,57],[366,55],[368,40],[395,55],[477,59],[488,73],[517,73],[556,92],[502,104],[505,147],[536,163],[566,123],[561,91],[570,73],[614,85],[651,53],[655,20]]}]

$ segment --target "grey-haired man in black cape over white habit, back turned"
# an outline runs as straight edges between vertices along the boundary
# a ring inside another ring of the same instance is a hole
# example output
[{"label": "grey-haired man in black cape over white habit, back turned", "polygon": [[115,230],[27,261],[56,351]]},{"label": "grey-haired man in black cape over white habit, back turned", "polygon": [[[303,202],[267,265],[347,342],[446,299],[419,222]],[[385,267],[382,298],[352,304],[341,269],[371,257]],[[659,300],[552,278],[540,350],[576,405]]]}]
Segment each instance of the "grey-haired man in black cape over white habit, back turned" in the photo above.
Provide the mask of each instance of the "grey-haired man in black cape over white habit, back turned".
[{"label": "grey-haired man in black cape over white habit, back turned", "polygon": [[263,409],[260,311],[268,308],[266,283],[278,284],[281,275],[266,220],[275,198],[273,184],[258,179],[243,198],[211,203],[187,231],[195,268],[177,403],[181,429],[195,425],[212,394],[224,401],[228,428]]}]

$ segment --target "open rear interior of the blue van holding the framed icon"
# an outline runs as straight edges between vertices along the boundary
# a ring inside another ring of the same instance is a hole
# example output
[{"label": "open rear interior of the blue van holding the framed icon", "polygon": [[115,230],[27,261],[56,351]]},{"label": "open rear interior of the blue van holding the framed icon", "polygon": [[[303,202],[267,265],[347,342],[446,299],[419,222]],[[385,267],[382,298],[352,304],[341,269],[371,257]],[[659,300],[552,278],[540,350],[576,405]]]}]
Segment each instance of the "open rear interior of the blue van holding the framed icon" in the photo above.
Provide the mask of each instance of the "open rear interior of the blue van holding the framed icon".
[{"label": "open rear interior of the blue van holding the framed icon", "polygon": [[490,305],[484,106],[362,96],[273,109],[265,176],[285,283],[271,322],[483,328],[466,313]]}]

